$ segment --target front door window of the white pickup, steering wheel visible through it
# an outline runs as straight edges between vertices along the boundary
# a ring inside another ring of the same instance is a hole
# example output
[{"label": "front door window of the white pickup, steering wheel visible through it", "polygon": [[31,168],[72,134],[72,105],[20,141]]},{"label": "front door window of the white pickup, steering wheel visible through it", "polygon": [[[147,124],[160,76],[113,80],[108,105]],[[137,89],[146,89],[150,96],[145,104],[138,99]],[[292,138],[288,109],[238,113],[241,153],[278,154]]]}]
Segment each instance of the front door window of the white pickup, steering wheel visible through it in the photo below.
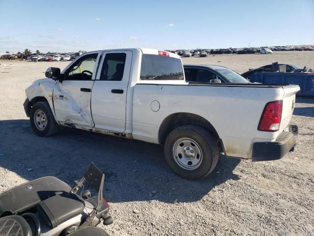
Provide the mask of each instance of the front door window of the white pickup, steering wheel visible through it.
[{"label": "front door window of the white pickup, steering wheel visible through it", "polygon": [[91,54],[78,60],[67,70],[68,80],[91,80],[98,54]]}]

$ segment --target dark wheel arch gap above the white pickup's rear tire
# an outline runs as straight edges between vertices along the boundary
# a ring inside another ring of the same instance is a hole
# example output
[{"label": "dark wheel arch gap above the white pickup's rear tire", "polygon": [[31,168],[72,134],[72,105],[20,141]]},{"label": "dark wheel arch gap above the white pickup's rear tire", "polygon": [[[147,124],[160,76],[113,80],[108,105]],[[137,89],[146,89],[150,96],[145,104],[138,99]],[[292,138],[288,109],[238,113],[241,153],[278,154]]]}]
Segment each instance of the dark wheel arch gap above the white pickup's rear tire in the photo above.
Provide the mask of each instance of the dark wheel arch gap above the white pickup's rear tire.
[{"label": "dark wheel arch gap above the white pickup's rear tire", "polygon": [[158,142],[164,144],[172,130],[183,125],[191,124],[206,129],[215,139],[220,140],[223,148],[222,141],[214,126],[207,119],[193,113],[174,113],[166,117],[159,127]]}]

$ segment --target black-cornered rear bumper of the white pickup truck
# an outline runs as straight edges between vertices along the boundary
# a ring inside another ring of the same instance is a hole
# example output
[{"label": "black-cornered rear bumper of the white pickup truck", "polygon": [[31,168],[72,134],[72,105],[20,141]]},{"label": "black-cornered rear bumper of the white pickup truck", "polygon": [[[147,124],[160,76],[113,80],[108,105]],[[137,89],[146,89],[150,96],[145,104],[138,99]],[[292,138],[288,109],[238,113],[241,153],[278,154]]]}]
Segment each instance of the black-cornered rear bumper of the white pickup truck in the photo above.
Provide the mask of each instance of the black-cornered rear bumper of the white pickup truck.
[{"label": "black-cornered rear bumper of the white pickup truck", "polygon": [[252,161],[272,161],[283,158],[288,151],[293,151],[299,136],[299,128],[289,123],[289,131],[282,132],[275,142],[254,143]]}]

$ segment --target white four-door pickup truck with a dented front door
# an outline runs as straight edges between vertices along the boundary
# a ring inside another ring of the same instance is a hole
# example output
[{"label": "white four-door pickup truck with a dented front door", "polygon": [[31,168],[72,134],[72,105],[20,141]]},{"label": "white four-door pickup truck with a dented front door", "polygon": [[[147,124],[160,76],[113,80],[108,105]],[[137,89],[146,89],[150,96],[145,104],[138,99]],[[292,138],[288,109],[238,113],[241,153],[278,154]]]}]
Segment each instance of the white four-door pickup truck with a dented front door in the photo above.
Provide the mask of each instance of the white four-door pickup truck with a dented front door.
[{"label": "white four-door pickup truck with a dented front door", "polygon": [[276,160],[293,150],[294,85],[186,83],[181,58],[153,49],[89,52],[26,89],[33,131],[59,125],[164,145],[179,176],[207,176],[221,153]]}]

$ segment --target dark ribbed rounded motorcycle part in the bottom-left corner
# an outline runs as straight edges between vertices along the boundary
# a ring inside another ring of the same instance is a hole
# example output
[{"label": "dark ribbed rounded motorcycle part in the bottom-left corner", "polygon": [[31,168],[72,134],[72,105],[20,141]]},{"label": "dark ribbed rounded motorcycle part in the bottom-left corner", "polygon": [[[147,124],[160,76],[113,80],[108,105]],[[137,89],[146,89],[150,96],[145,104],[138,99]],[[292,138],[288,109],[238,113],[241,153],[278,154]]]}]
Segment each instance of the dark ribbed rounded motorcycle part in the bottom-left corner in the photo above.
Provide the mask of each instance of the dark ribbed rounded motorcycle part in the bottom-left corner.
[{"label": "dark ribbed rounded motorcycle part in the bottom-left corner", "polygon": [[10,215],[0,218],[0,236],[32,236],[32,231],[20,215]]}]

